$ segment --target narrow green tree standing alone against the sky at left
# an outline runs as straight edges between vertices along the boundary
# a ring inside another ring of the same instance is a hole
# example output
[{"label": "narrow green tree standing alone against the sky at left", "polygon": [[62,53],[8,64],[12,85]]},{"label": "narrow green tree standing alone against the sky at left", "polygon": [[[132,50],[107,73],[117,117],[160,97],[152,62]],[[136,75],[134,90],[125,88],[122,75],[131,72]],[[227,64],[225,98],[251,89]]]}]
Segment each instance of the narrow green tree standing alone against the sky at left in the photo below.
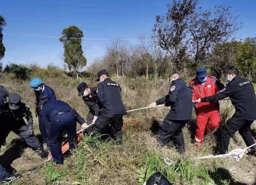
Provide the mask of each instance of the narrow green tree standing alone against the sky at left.
[{"label": "narrow green tree standing alone against the sky at left", "polygon": [[86,66],[86,58],[83,55],[81,38],[84,37],[82,30],[76,26],[70,26],[62,30],[60,41],[64,47],[64,62],[68,65],[69,70],[78,74]]}]

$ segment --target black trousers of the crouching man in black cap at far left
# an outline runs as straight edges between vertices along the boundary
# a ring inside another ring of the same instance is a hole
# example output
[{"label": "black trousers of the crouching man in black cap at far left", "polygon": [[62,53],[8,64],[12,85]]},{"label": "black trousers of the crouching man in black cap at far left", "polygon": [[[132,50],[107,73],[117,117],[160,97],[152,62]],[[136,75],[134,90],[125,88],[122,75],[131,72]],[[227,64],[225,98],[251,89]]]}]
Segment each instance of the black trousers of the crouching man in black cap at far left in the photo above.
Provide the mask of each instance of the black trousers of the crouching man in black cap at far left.
[{"label": "black trousers of the crouching man in black cap at far left", "polygon": [[29,136],[28,135],[28,125],[25,123],[24,120],[16,121],[13,119],[4,119],[3,122],[1,120],[0,126],[0,144],[3,144],[6,140],[9,133],[12,131],[21,138],[23,138],[28,146],[33,149],[41,148],[42,145],[39,142],[36,136]]}]

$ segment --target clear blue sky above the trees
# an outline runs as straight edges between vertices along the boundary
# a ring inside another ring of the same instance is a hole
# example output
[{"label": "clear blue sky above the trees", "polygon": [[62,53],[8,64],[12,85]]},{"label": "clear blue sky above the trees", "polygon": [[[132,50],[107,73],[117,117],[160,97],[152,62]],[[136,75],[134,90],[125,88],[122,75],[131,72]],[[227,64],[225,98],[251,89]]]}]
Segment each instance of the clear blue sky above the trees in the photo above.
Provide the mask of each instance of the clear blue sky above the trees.
[{"label": "clear blue sky above the trees", "polygon": [[[166,13],[171,0],[1,0],[0,15],[6,20],[1,62],[62,66],[63,45],[58,37],[68,26],[84,33],[82,48],[90,65],[102,57],[114,39],[150,35],[155,17]],[[234,37],[256,37],[256,0],[199,0],[199,6],[212,10],[230,6],[233,16],[243,23]],[[52,36],[52,37],[43,37]],[[150,39],[150,36],[149,36]]]}]

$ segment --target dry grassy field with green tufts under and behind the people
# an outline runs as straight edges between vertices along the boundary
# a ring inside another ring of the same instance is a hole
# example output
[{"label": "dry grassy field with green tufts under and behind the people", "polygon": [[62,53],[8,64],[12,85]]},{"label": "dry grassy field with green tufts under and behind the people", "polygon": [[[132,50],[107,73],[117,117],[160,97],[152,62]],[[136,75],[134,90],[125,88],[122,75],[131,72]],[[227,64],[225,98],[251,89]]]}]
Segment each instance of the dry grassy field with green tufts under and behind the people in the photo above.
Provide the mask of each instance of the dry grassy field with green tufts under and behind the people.
[{"label": "dry grassy field with green tufts under and behind the people", "polygon": [[[34,96],[28,81],[12,80],[0,75],[0,83],[15,89],[9,88],[10,92],[20,93],[23,101],[30,104],[34,112]],[[76,85],[81,81],[96,85],[93,79],[76,81],[64,75],[44,78],[44,83],[54,89],[58,99],[69,103],[86,117],[88,109],[76,91]],[[123,78],[117,81],[122,86],[127,110],[147,106],[165,95],[169,88],[167,81],[162,79],[147,81],[144,78]],[[22,179],[15,181],[14,185],[135,185],[142,184],[156,171],[164,173],[176,185],[256,184],[256,157],[245,156],[240,162],[234,159],[191,160],[192,157],[212,154],[218,140],[217,131],[206,136],[201,148],[194,146],[194,113],[193,119],[184,128],[186,154],[179,155],[172,144],[160,147],[154,138],[154,130],[167,112],[168,108],[162,107],[127,114],[124,116],[122,146],[115,145],[112,140],[100,142],[86,136],[72,155],[65,158],[62,166],[44,163],[12,133],[8,136],[6,146],[1,148],[1,163],[6,166],[11,164],[23,174]],[[233,112],[230,101],[221,102],[222,124]],[[38,120],[35,116],[34,128],[38,135]],[[256,135],[255,124],[252,132]],[[236,133],[230,140],[230,150],[238,147],[245,147],[245,144]],[[164,157],[172,159],[174,164],[167,166]]]}]

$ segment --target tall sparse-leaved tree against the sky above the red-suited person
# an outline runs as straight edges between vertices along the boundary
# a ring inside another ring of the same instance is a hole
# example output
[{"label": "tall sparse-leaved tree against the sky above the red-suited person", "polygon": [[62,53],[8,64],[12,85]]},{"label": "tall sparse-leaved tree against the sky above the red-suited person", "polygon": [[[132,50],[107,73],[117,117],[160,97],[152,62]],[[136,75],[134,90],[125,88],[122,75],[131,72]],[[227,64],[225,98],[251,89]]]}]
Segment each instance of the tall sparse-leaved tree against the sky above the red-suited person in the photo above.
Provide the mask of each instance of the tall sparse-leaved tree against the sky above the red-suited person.
[{"label": "tall sparse-leaved tree against the sky above the red-suited person", "polygon": [[241,24],[229,8],[216,6],[214,12],[203,11],[198,0],[173,0],[166,16],[156,16],[154,37],[168,51],[175,67],[184,71],[185,62],[195,69],[210,56],[214,46],[227,41]]}]

